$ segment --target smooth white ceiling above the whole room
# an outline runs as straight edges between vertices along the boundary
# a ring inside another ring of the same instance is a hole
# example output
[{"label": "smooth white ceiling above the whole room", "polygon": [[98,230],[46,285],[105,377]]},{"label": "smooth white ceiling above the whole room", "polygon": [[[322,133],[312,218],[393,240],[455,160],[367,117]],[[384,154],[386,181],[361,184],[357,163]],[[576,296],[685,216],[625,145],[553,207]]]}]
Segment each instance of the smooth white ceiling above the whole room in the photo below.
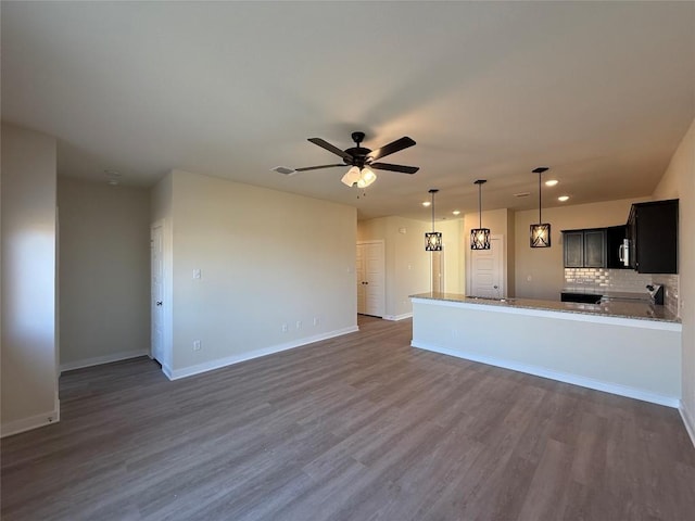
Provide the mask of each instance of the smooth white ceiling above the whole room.
[{"label": "smooth white ceiling above the whole room", "polygon": [[[695,2],[8,2],[2,118],[59,138],[59,175],[173,168],[427,220],[648,195],[695,117]],[[417,145],[365,192],[346,149]],[[531,192],[515,198],[518,192]]]}]

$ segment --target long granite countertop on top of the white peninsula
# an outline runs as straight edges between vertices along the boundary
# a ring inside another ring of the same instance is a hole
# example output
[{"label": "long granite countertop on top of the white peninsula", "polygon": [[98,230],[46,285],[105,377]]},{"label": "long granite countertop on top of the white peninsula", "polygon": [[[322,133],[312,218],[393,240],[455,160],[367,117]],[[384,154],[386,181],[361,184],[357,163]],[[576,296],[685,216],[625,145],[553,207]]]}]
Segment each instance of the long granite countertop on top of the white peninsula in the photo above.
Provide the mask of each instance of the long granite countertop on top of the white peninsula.
[{"label": "long granite countertop on top of the white peninsula", "polygon": [[634,318],[639,320],[657,320],[680,323],[681,319],[670,313],[665,306],[657,306],[647,302],[614,301],[602,304],[578,304],[574,302],[539,301],[532,298],[485,298],[466,296],[458,293],[418,293],[412,298],[429,298],[433,301],[460,302],[489,306],[510,308],[541,309],[547,312],[579,313],[583,315],[598,315],[604,317]]}]

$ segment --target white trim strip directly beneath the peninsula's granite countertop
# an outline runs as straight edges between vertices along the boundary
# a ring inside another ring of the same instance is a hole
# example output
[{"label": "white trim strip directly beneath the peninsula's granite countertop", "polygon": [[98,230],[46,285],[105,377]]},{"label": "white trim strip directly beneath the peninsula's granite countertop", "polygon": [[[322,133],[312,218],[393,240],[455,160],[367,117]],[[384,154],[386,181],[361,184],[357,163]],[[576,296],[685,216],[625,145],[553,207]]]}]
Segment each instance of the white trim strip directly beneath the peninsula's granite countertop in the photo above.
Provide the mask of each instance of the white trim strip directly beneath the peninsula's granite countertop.
[{"label": "white trim strip directly beneath the peninsula's granite countertop", "polygon": [[669,322],[648,318],[641,319],[595,315],[591,313],[574,312],[572,309],[538,309],[532,307],[519,307],[515,306],[514,302],[509,304],[488,304],[482,302],[442,301],[439,298],[424,298],[419,296],[412,296],[410,301],[414,304],[457,307],[459,309],[473,309],[485,313],[507,313],[509,315],[526,315],[528,317],[544,317],[560,320],[573,320],[578,322],[608,323],[611,326],[637,327],[642,329],[656,329],[659,331],[675,331],[678,333],[683,331],[683,326],[679,322]]}]

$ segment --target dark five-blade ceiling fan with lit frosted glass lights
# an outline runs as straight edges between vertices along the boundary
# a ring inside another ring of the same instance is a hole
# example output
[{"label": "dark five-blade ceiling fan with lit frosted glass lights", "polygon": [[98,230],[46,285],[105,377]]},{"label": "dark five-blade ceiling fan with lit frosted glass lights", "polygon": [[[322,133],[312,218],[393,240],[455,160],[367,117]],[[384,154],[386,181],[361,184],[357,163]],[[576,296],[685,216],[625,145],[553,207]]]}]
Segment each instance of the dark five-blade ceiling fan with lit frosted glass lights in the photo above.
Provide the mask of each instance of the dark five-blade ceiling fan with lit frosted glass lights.
[{"label": "dark five-blade ceiling fan with lit frosted glass lights", "polygon": [[293,170],[289,171],[281,171],[277,169],[277,171],[281,171],[282,174],[293,174],[295,171],[318,170],[320,168],[332,168],[337,166],[352,166],[352,168],[341,179],[342,182],[344,185],[348,185],[349,187],[357,185],[357,187],[359,188],[366,188],[377,179],[377,175],[372,170],[390,170],[402,174],[415,174],[417,170],[419,170],[419,167],[417,166],[393,165],[391,163],[377,162],[377,160],[380,160],[381,157],[386,157],[387,155],[391,155],[395,152],[400,152],[403,149],[413,147],[415,144],[415,141],[407,136],[401,139],[396,139],[395,141],[377,150],[370,150],[361,147],[361,143],[362,141],[364,141],[364,132],[352,132],[352,140],[355,142],[355,147],[346,150],[340,150],[338,147],[330,144],[328,141],[321,138],[308,138],[308,141],[311,141],[312,143],[317,144],[320,148],[326,149],[329,152],[332,152],[333,154],[342,157],[343,163],[333,165],[306,166],[304,168],[294,168]]}]

